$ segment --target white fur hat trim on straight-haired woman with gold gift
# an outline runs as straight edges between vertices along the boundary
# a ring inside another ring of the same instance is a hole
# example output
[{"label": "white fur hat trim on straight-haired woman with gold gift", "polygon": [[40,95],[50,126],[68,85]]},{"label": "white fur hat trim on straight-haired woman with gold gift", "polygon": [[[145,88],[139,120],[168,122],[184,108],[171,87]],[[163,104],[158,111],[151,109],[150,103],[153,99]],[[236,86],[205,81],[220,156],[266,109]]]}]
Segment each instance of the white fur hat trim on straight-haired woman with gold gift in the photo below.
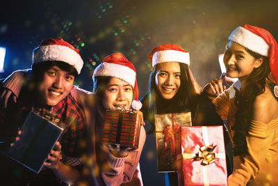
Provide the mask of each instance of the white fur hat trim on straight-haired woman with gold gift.
[{"label": "white fur hat trim on straight-haired woman with gold gift", "polygon": [[152,66],[157,63],[177,61],[190,65],[189,53],[177,50],[162,50],[154,53],[152,56]]}]

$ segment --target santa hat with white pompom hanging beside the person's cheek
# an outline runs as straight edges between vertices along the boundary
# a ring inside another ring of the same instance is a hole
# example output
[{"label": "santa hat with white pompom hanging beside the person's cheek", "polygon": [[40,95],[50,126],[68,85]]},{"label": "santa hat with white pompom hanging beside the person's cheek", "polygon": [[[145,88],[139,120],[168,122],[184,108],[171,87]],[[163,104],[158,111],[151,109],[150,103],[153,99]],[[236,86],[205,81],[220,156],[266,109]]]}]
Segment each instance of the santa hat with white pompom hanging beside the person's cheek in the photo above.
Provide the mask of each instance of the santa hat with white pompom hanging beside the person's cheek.
[{"label": "santa hat with white pompom hanging beside the person's cheek", "polygon": [[133,87],[134,100],[132,102],[133,109],[139,110],[142,103],[138,100],[138,86],[136,80],[136,69],[121,53],[114,53],[104,58],[95,69],[92,79],[95,82],[95,77],[117,77],[128,82]]}]

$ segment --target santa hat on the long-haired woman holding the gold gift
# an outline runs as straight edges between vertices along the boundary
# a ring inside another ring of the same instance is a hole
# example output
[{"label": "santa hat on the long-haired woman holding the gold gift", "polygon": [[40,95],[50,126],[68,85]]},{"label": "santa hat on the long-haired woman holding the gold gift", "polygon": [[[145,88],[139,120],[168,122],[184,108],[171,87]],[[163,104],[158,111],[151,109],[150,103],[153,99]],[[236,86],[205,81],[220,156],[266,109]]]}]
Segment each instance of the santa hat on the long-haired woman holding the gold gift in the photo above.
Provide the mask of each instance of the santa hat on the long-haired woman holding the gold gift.
[{"label": "santa hat on the long-haired woman holding the gold gift", "polygon": [[165,44],[155,47],[148,57],[152,67],[158,63],[176,61],[190,65],[189,53],[179,45]]}]

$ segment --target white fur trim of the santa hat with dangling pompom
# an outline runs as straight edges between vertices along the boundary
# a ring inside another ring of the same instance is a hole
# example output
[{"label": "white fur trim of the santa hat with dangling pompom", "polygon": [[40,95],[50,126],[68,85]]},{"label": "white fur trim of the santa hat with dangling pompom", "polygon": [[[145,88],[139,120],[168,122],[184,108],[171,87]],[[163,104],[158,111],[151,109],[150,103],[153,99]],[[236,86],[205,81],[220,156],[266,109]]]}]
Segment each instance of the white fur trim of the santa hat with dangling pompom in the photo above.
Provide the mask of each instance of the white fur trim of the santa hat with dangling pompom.
[{"label": "white fur trim of the santa hat with dangling pompom", "polygon": [[124,80],[125,82],[128,82],[133,87],[136,81],[136,72],[134,70],[127,66],[118,65],[115,63],[104,62],[98,65],[94,74],[92,75],[92,78],[98,76],[117,77]]}]

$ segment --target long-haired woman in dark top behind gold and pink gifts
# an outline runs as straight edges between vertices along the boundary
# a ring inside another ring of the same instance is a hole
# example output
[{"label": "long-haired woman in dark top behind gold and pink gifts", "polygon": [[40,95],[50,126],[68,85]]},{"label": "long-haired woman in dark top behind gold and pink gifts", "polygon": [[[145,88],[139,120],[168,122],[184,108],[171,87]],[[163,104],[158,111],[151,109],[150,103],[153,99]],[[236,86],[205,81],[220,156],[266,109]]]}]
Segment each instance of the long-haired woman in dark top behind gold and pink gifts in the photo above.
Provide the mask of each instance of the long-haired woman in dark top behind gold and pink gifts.
[{"label": "long-haired woman in dark top behind gold and pink gifts", "polygon": [[[177,173],[165,173],[164,182],[164,175],[156,171],[156,158],[149,158],[150,152],[156,154],[154,114],[190,111],[193,125],[222,125],[222,120],[213,104],[200,95],[201,87],[190,71],[190,57],[185,49],[179,45],[160,45],[149,55],[149,61],[153,67],[149,93],[141,99],[141,111],[149,124],[146,125],[149,135],[140,160],[142,178],[146,185],[178,185]],[[225,137],[229,143],[229,137],[226,134]],[[229,160],[227,162],[231,173]]]}]

